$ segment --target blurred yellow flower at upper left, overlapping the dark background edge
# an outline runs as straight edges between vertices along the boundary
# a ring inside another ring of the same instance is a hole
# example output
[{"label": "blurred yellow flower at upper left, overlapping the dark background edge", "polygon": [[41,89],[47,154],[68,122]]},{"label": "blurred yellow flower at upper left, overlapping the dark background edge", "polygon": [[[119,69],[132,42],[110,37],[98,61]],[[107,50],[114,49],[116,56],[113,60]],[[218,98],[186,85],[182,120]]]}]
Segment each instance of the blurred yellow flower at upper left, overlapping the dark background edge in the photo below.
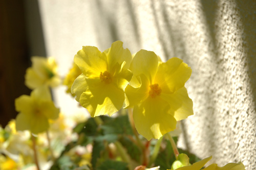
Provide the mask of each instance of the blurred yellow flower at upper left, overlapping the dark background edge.
[{"label": "blurred yellow flower at upper left, overlapping the dark background edge", "polygon": [[60,83],[57,74],[57,64],[55,59],[34,56],[31,58],[32,67],[28,68],[25,75],[25,84],[30,89],[46,85],[56,87]]}]

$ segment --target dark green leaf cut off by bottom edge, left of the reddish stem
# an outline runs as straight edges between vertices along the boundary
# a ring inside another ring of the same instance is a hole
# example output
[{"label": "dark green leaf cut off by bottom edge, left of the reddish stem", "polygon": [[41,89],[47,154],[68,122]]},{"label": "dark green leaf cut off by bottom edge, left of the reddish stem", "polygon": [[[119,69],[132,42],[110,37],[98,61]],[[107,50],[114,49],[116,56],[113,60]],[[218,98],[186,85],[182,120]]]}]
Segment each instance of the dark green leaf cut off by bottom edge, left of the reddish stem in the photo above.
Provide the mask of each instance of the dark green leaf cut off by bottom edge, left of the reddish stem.
[{"label": "dark green leaf cut off by bottom edge, left of the reddish stem", "polygon": [[106,160],[102,162],[96,170],[128,170],[127,163],[114,161],[114,160]]}]

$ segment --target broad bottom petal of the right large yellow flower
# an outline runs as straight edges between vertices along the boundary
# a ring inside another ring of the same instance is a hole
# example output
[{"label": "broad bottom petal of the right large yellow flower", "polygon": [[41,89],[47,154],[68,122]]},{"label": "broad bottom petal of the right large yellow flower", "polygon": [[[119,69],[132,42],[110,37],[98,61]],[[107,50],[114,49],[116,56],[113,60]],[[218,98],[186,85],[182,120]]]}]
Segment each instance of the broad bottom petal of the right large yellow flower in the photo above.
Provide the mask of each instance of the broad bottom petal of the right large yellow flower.
[{"label": "broad bottom petal of the right large yellow flower", "polygon": [[134,107],[133,118],[139,134],[147,140],[159,139],[176,128],[176,120],[168,114],[169,104],[160,97],[148,97]]}]

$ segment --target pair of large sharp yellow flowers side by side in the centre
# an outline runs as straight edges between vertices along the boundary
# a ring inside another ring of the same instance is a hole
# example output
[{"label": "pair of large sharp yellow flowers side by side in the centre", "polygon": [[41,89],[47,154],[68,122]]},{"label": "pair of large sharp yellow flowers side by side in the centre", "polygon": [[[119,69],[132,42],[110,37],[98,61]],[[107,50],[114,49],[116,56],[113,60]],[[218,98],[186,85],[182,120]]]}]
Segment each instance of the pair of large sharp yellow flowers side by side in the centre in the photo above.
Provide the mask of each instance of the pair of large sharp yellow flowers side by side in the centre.
[{"label": "pair of large sharp yellow flowers side by side in the centre", "polygon": [[133,119],[139,134],[159,139],[176,128],[176,121],[193,115],[193,102],[185,82],[191,69],[179,58],[159,61],[152,51],[140,50],[132,58],[121,41],[100,52],[86,46],[74,62],[80,68],[71,88],[76,100],[92,117],[112,115],[134,108]]}]

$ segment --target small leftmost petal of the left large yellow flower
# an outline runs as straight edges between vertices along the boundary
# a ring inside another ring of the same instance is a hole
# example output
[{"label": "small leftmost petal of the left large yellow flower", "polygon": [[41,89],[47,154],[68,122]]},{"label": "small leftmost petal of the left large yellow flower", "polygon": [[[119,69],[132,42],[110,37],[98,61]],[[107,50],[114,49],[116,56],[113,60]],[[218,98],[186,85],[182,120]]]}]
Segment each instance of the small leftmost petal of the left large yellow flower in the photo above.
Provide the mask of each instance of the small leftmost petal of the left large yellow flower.
[{"label": "small leftmost petal of the left large yellow flower", "polygon": [[81,74],[75,79],[71,87],[71,93],[76,94],[76,101],[79,102],[81,94],[85,92],[87,89],[88,85],[86,82],[86,76],[84,74]]}]

